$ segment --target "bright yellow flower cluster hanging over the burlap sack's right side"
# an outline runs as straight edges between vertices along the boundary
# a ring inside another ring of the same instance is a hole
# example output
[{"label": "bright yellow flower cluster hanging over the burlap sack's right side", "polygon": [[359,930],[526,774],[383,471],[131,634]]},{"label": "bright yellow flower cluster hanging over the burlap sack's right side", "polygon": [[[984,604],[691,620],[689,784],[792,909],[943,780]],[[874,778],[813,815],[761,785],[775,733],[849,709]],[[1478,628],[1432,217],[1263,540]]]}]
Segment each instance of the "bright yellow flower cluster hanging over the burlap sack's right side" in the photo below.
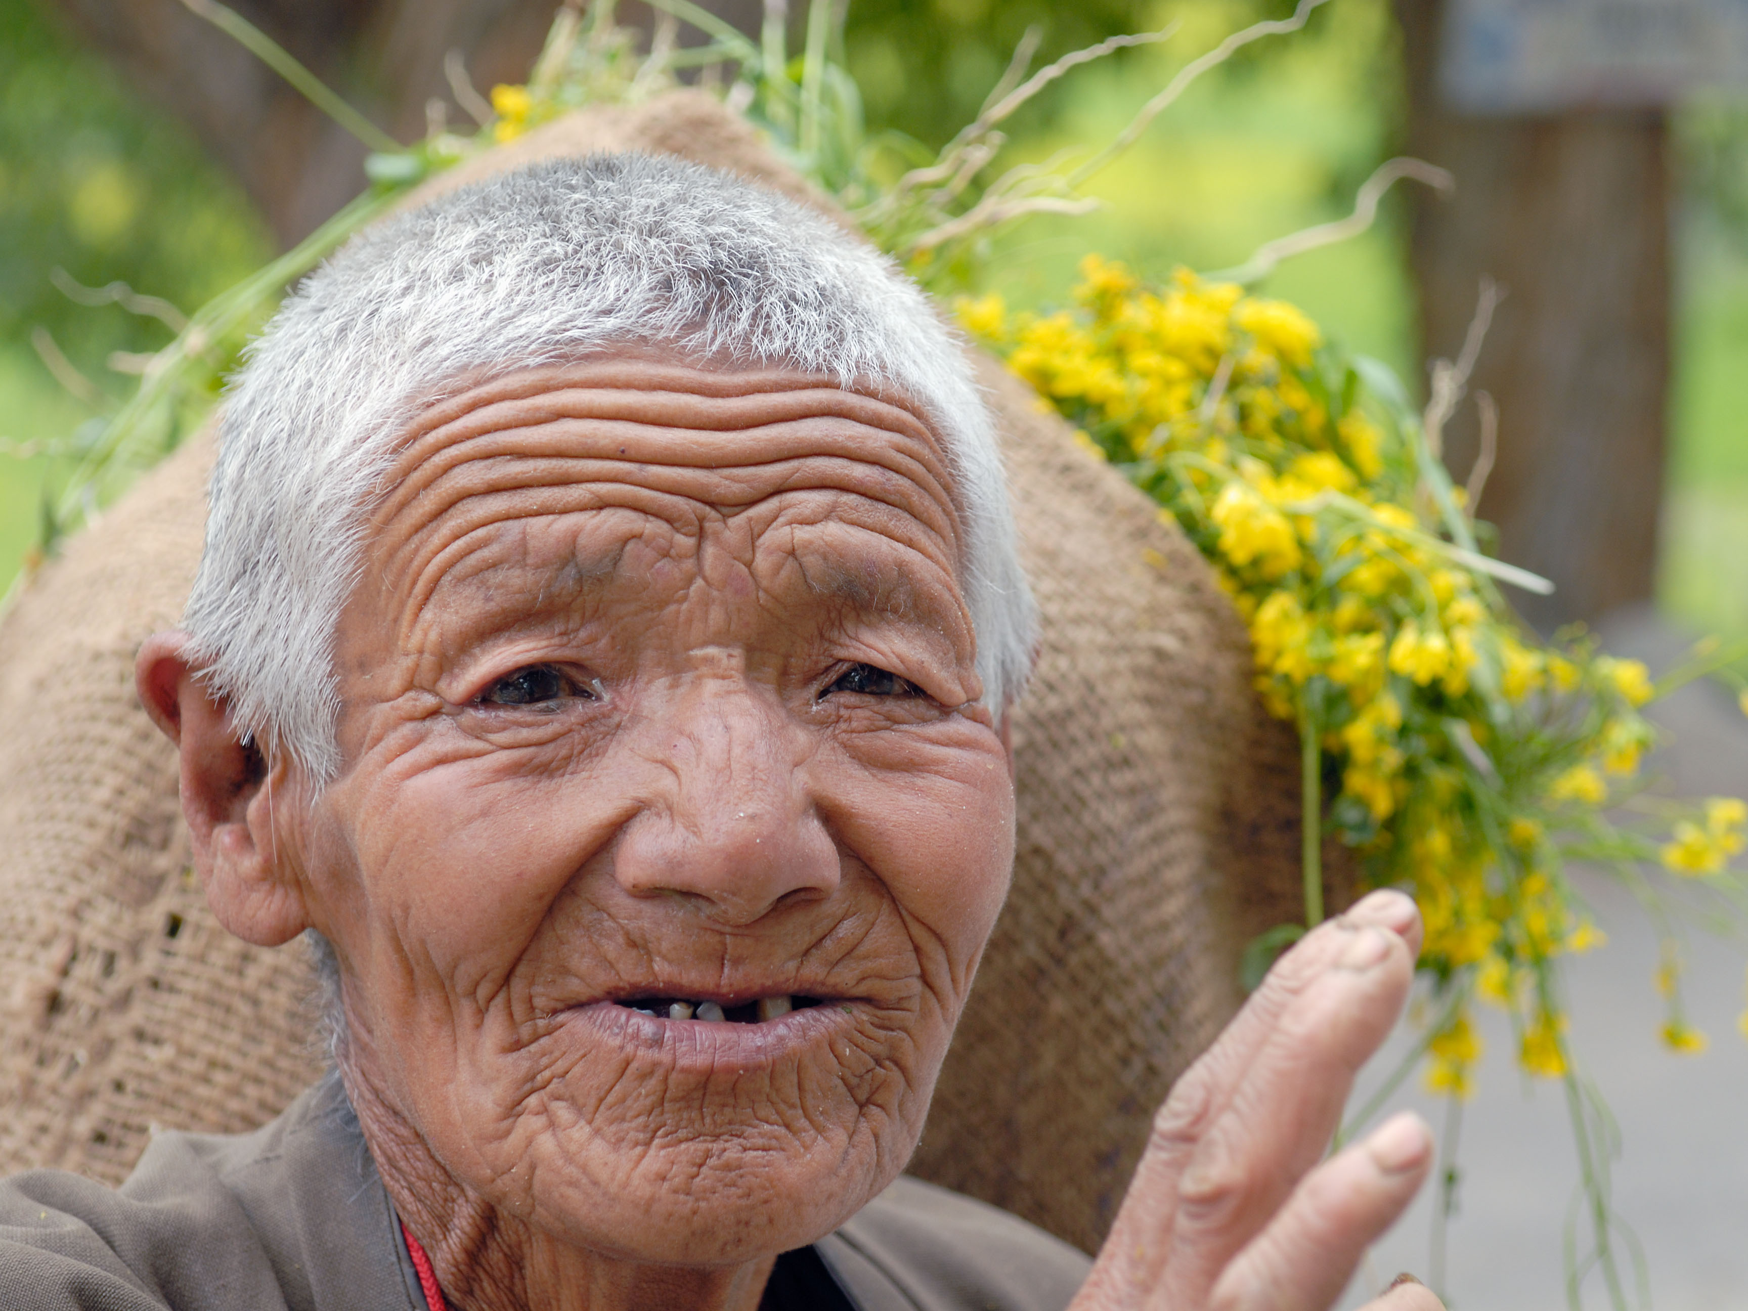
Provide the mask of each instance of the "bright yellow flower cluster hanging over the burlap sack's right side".
[{"label": "bright yellow flower cluster hanging over the burlap sack's right side", "polygon": [[[1470,1089],[1472,995],[1510,1010],[1524,1070],[1563,1077],[1549,967],[1601,942],[1563,857],[1659,855],[1605,815],[1654,741],[1648,671],[1582,631],[1543,643],[1517,624],[1493,563],[1456,540],[1463,493],[1433,482],[1414,418],[1294,306],[1190,273],[1148,287],[1098,255],[1075,299],[958,311],[1203,551],[1250,628],[1264,704],[1318,753],[1332,801],[1314,818],[1372,881],[1414,893],[1421,968],[1456,1002],[1428,1040],[1430,1086]],[[1713,801],[1661,857],[1718,874],[1745,820],[1743,802]],[[1666,1038],[1703,1042],[1678,1005]]]}]

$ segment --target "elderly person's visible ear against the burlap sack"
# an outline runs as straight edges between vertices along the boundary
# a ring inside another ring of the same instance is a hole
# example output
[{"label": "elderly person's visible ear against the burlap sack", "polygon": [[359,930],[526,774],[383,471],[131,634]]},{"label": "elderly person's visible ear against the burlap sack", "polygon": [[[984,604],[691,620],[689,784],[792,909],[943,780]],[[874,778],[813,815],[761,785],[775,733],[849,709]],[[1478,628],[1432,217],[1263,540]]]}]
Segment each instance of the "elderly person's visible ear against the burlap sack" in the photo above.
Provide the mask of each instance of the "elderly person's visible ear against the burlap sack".
[{"label": "elderly person's visible ear against the burlap sack", "polygon": [[182,815],[206,904],[245,942],[276,947],[309,926],[302,881],[295,864],[281,860],[274,825],[301,809],[290,795],[290,771],[236,731],[229,706],[212,697],[187,650],[187,633],[147,638],[135,661],[135,687],[145,713],[180,753]]}]

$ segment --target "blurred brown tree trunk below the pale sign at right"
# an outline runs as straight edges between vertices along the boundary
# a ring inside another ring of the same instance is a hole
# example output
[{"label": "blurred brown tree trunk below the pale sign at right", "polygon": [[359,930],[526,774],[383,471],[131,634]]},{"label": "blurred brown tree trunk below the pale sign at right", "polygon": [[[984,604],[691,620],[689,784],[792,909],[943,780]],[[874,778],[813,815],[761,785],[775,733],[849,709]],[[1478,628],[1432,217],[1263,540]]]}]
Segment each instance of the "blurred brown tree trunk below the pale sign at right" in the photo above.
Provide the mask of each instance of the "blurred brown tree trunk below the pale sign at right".
[{"label": "blurred brown tree trunk below the pale sign at right", "polygon": [[[1669,379],[1669,231],[1661,112],[1465,117],[1437,91],[1440,0],[1397,0],[1409,154],[1456,175],[1416,198],[1421,346],[1454,357],[1491,274],[1505,290],[1472,392],[1500,407],[1481,517],[1500,554],[1547,575],[1516,593],[1542,629],[1652,596]],[[1474,465],[1472,407],[1446,460]]]}]

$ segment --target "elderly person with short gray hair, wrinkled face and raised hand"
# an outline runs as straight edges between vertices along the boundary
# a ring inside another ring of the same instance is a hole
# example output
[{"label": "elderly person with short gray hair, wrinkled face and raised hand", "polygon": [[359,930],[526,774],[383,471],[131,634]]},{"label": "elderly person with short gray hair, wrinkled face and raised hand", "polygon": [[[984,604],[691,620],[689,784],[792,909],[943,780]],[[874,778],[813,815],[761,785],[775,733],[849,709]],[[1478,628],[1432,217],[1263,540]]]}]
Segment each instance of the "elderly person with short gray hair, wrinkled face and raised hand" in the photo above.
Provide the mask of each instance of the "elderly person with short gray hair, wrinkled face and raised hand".
[{"label": "elderly person with short gray hair, wrinkled face and raised hand", "polygon": [[1318,1164],[1393,893],[1182,1080],[1096,1260],[900,1178],[1031,649],[961,350],[827,220],[600,156],[357,239],[253,346],[138,657],[206,897],[309,937],[337,1073],[115,1192],[0,1185],[0,1301],[1327,1308],[1430,1155],[1404,1117]]}]

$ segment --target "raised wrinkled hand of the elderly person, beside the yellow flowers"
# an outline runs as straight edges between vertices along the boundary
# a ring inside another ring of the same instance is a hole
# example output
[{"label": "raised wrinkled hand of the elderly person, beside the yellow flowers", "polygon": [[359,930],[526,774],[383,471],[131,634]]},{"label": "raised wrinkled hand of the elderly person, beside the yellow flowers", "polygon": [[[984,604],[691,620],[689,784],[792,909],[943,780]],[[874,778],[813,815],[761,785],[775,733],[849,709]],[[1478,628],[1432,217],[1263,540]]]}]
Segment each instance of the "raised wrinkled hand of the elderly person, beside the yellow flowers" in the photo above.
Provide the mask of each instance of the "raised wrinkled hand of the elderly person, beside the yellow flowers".
[{"label": "raised wrinkled hand of the elderly person, beside the yellow flowers", "polygon": [[[1288,951],[1154,1119],[1072,1311],[1325,1311],[1432,1164],[1402,1113],[1321,1161],[1402,1012],[1421,925],[1376,891]],[[1440,1311],[1407,1283],[1367,1311]]]}]

